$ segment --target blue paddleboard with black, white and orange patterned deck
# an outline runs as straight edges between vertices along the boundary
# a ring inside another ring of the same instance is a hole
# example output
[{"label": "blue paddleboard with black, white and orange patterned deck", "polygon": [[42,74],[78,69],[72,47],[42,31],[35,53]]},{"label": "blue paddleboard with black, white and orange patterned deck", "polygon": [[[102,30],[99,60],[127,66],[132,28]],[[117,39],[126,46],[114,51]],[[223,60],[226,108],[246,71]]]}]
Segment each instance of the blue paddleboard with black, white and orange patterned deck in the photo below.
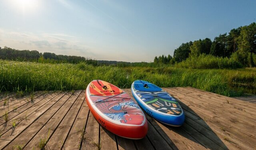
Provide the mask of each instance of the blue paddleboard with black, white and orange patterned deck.
[{"label": "blue paddleboard with black, white and orange patterned deck", "polygon": [[158,86],[136,80],[132,83],[132,95],[154,119],[174,127],[184,123],[185,115],[178,101]]}]

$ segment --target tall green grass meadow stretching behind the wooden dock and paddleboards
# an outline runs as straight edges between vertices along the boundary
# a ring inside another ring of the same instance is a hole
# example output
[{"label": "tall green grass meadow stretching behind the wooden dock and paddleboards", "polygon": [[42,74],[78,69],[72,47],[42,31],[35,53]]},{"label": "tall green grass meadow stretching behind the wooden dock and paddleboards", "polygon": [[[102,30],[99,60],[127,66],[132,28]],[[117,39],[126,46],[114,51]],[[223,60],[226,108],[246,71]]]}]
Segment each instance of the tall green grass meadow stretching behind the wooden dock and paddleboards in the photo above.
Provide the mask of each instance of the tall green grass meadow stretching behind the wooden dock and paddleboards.
[{"label": "tall green grass meadow stretching behind the wooden dock and paddleboards", "polygon": [[79,64],[46,64],[0,60],[0,91],[86,89],[95,79],[120,88],[130,88],[134,80],[147,80],[160,87],[190,86],[226,96],[255,94],[256,69],[192,69],[175,66],[118,67]]}]

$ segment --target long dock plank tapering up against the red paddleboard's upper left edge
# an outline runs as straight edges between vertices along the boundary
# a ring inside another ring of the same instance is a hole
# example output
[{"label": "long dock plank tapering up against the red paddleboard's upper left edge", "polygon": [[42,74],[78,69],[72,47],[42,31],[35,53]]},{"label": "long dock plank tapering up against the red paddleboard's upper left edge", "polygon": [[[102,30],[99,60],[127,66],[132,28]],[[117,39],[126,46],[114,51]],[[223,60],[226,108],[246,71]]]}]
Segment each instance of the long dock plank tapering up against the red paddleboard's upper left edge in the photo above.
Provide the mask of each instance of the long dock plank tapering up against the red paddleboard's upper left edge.
[{"label": "long dock plank tapering up against the red paddleboard's upper left edge", "polygon": [[[82,95],[85,95],[84,91],[82,92]],[[89,108],[84,98],[84,103],[82,104],[82,107],[76,117],[74,125],[72,126],[72,129],[68,134],[68,138],[64,143],[63,149],[70,150],[73,148],[80,148],[81,138],[82,138],[81,134],[85,127],[88,115],[89,115]]]}]

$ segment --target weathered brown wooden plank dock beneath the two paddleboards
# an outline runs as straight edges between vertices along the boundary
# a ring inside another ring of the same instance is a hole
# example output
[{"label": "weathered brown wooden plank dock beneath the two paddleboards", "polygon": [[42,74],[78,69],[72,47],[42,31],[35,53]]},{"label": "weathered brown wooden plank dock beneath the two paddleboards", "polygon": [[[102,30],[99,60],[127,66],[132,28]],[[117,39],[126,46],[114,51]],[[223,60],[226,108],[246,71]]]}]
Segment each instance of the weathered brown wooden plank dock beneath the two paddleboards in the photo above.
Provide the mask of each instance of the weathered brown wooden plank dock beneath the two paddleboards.
[{"label": "weathered brown wooden plank dock beneath the two paddleboards", "polygon": [[[130,140],[102,128],[90,113],[85,91],[0,95],[0,149],[48,150],[255,150],[256,104],[194,88],[163,88],[179,100],[186,118],[170,127],[149,115],[148,134]],[[124,89],[132,96],[130,89]],[[8,117],[7,117],[7,115]],[[7,121],[7,122],[6,122]],[[15,125],[16,124],[16,125]]]}]

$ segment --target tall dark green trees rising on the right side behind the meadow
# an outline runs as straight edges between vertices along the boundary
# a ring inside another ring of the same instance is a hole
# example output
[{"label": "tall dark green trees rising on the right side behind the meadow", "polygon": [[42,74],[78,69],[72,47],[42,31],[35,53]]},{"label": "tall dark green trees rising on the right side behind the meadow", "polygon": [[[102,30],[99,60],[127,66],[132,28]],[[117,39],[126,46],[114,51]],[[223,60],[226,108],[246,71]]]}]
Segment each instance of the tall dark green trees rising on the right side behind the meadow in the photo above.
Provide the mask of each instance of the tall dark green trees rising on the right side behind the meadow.
[{"label": "tall dark green trees rising on the right side behind the meadow", "polygon": [[240,62],[243,66],[256,66],[256,23],[232,29],[228,34],[220,34],[213,41],[205,38],[182,43],[174,50],[173,57],[156,56],[154,63],[175,64],[189,57],[196,59],[202,54],[228,57]]}]

